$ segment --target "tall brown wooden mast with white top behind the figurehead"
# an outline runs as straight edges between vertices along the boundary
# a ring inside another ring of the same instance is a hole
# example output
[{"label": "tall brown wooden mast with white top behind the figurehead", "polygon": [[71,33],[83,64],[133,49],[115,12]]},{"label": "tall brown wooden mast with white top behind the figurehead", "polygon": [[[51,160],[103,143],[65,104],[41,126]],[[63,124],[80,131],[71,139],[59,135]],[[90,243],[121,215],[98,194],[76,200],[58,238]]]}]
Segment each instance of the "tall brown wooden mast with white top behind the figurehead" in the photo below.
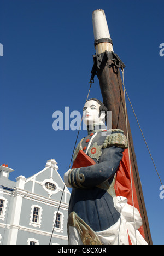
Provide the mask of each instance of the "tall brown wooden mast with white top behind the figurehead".
[{"label": "tall brown wooden mast with white top behind the figurehead", "polygon": [[[104,11],[101,9],[93,11],[92,21],[96,50],[96,56],[94,57],[95,65],[93,66],[92,73],[93,75],[96,73],[99,79],[104,105],[109,111],[112,111],[112,129],[119,128],[127,136],[124,91],[119,70],[121,65],[122,67],[125,67],[125,65],[121,62],[118,55],[113,53],[113,43],[110,38]],[[133,179],[143,220],[145,240],[149,245],[153,245],[128,117],[127,126]]]}]

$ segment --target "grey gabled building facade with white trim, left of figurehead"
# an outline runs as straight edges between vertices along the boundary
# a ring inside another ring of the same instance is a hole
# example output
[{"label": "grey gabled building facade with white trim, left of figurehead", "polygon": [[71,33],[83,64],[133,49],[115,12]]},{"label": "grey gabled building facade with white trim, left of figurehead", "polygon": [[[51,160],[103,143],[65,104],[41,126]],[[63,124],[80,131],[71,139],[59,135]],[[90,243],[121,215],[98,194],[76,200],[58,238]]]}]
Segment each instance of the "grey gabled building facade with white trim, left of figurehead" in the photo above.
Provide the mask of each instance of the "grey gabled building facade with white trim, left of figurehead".
[{"label": "grey gabled building facade with white trim, left of figurehead", "polygon": [[14,170],[0,166],[0,245],[49,245],[54,224],[51,245],[68,245],[70,192],[66,187],[63,192],[56,164],[48,160],[42,171],[16,182],[9,180]]}]

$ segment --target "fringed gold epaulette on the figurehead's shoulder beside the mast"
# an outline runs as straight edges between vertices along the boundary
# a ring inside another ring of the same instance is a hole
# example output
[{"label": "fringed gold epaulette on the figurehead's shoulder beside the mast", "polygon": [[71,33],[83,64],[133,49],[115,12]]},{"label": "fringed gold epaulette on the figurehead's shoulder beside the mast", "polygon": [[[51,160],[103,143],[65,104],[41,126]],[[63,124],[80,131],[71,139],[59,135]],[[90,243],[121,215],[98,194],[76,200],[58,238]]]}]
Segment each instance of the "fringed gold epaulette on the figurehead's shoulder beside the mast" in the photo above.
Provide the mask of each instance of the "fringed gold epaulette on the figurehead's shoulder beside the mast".
[{"label": "fringed gold epaulette on the figurehead's shoulder beside the mast", "polygon": [[124,135],[124,132],[120,129],[111,129],[107,131],[108,135],[103,143],[103,148],[108,147],[120,147],[120,148],[128,148],[127,138]]}]

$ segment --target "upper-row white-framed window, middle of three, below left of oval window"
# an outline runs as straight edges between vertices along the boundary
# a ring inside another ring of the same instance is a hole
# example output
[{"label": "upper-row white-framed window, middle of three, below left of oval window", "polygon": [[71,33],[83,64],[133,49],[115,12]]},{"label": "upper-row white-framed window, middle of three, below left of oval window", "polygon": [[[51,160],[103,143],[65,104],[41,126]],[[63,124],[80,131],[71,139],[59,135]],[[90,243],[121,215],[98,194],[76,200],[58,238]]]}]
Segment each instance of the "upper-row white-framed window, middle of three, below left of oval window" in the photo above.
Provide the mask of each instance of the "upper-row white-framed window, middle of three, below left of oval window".
[{"label": "upper-row white-framed window, middle of three, below left of oval window", "polygon": [[42,220],[42,207],[39,205],[32,205],[31,215],[30,215],[30,225],[35,228],[38,226],[40,228]]}]

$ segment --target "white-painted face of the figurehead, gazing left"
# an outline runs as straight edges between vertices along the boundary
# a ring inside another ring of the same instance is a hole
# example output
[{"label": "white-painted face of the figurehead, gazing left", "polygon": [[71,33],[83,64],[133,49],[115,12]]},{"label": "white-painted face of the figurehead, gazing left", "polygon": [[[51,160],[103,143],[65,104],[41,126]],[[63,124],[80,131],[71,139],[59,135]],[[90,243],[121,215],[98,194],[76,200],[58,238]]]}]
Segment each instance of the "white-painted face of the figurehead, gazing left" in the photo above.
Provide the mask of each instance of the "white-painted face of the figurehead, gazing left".
[{"label": "white-painted face of the figurehead, gazing left", "polygon": [[87,101],[83,108],[83,121],[86,125],[103,123],[104,114],[99,113],[100,104],[97,101]]}]

